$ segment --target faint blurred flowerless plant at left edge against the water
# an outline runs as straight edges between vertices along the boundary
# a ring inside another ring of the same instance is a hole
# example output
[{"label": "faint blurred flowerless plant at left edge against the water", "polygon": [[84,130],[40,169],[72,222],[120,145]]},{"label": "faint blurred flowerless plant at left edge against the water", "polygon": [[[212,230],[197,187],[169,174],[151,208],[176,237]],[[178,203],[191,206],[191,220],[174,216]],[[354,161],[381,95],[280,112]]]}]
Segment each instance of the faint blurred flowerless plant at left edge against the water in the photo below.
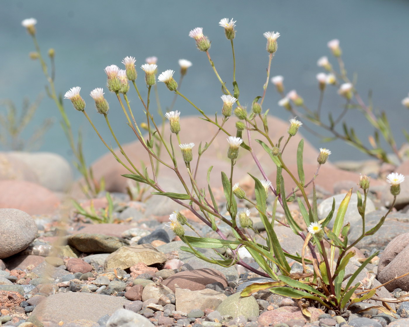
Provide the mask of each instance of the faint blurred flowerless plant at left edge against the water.
[{"label": "faint blurred flowerless plant at left edge against the water", "polygon": [[39,147],[43,135],[53,123],[52,118],[45,119],[26,140],[21,137],[21,133],[33,119],[41,99],[42,96],[39,95],[36,101],[30,103],[29,99],[25,98],[20,112],[11,100],[4,100],[0,103],[6,108],[4,114],[0,113],[0,142],[4,148],[22,151],[35,150]]}]

